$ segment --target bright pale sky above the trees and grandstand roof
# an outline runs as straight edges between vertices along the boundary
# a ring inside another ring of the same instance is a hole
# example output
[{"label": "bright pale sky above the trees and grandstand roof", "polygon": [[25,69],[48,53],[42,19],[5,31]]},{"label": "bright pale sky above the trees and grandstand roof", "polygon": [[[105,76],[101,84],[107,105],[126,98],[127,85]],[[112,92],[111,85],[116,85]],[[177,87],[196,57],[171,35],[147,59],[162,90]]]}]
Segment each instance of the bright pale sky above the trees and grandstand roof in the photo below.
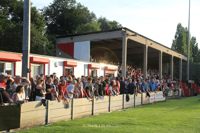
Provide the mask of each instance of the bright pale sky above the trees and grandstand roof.
[{"label": "bright pale sky above the trees and grandstand roof", "polygon": [[[189,0],[76,0],[96,14],[171,47],[178,23],[188,27]],[[31,0],[42,9],[53,0]],[[191,0],[190,33],[200,41],[200,0]]]}]

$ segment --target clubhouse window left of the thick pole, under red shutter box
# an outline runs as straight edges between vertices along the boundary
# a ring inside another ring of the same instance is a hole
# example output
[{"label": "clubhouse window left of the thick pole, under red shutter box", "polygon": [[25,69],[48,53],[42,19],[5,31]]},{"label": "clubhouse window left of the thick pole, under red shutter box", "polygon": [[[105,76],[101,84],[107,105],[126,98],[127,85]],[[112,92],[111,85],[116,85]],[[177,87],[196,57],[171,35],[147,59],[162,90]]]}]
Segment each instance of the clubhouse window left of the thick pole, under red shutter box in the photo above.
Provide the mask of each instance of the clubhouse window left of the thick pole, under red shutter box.
[{"label": "clubhouse window left of the thick pole, under red shutter box", "polygon": [[0,62],[0,72],[14,76],[14,63]]}]

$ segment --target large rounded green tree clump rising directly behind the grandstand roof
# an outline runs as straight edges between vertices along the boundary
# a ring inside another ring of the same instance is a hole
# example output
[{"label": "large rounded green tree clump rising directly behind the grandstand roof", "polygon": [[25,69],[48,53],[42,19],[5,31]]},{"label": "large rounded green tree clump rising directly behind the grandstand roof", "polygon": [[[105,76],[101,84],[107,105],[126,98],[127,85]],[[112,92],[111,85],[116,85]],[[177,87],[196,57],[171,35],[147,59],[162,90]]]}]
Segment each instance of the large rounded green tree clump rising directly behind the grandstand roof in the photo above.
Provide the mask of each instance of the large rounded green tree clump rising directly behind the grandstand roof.
[{"label": "large rounded green tree clump rising directly behind the grandstand roof", "polygon": [[93,12],[76,0],[54,0],[44,9],[47,32],[54,35],[69,35],[120,27],[116,21],[96,18]]}]

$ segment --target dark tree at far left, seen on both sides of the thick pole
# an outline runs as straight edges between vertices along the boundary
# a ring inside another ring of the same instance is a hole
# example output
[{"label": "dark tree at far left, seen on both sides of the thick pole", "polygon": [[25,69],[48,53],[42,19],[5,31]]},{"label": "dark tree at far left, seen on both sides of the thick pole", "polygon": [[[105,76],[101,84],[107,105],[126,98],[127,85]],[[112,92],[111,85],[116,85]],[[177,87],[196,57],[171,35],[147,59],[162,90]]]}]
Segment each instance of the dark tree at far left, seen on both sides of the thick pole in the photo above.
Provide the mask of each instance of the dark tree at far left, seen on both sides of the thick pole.
[{"label": "dark tree at far left, seen on both sides of the thick pole", "polygon": [[[45,35],[45,20],[35,8],[31,8],[31,52],[52,54]],[[22,52],[23,1],[1,0],[0,3],[0,49]]]}]

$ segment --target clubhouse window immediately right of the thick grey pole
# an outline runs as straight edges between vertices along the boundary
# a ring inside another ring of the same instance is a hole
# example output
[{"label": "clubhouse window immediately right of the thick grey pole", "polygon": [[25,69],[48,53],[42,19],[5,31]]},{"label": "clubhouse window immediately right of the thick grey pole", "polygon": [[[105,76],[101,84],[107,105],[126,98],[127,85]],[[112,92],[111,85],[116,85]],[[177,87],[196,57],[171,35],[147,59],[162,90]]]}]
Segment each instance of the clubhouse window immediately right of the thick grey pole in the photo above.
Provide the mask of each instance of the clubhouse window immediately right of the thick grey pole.
[{"label": "clubhouse window immediately right of the thick grey pole", "polygon": [[44,64],[31,64],[31,77],[36,78],[40,74],[44,74]]}]

